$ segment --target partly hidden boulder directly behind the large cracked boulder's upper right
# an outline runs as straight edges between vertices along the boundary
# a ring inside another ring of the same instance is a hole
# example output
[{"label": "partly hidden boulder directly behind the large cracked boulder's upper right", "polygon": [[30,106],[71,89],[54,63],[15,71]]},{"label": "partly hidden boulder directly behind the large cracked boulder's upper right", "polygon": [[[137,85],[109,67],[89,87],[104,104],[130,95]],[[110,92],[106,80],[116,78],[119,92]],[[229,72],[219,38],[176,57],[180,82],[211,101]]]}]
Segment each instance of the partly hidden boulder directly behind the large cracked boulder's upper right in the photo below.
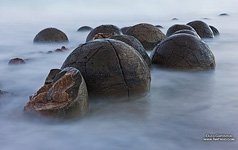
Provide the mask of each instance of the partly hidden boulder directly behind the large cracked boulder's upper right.
[{"label": "partly hidden boulder directly behind the large cracked boulder's upper right", "polygon": [[146,51],[145,51],[143,45],[140,43],[140,41],[137,40],[134,36],[116,35],[116,36],[112,36],[111,39],[119,40],[119,41],[125,42],[126,44],[132,46],[135,50],[137,50],[141,54],[142,58],[145,60],[147,65],[149,67],[151,66],[150,57],[146,53]]}]

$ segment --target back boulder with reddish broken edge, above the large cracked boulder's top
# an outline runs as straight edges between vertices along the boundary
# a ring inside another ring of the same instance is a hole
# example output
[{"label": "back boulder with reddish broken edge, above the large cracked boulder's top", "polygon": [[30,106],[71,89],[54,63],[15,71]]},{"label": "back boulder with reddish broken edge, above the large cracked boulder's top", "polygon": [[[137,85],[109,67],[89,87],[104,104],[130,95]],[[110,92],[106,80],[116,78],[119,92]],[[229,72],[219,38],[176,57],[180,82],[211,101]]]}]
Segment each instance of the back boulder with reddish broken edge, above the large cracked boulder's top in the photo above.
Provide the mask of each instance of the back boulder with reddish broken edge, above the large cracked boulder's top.
[{"label": "back boulder with reddish broken edge, above the large cracked boulder's top", "polygon": [[121,31],[117,26],[114,25],[100,25],[90,31],[87,36],[86,42],[93,40],[95,35],[98,33],[117,35],[121,34]]}]

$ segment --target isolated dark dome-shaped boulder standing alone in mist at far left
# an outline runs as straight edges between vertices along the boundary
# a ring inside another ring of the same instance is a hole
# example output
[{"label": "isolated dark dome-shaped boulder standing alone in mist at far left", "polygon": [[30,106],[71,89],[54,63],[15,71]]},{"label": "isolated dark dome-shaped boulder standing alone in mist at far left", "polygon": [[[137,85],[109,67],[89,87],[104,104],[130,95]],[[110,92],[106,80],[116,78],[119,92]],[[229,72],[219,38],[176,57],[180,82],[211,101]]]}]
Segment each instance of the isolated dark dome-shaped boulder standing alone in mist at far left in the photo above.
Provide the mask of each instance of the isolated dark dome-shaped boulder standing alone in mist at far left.
[{"label": "isolated dark dome-shaped boulder standing alone in mist at far left", "polygon": [[68,41],[66,34],[56,28],[41,30],[34,38],[34,43],[61,43]]}]

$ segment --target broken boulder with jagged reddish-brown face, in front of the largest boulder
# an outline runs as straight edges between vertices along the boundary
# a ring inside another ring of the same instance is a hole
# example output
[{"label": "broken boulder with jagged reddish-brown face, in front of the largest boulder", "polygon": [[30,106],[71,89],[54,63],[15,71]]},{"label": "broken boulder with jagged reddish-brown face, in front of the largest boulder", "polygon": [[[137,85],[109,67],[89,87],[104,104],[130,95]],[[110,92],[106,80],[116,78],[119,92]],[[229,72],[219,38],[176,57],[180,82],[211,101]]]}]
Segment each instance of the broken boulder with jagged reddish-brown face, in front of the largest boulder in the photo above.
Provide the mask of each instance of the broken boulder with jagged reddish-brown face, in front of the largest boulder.
[{"label": "broken boulder with jagged reddish-brown face, in front of the largest boulder", "polygon": [[52,69],[45,84],[30,96],[24,111],[54,117],[84,115],[88,111],[88,93],[80,71],[72,67]]}]

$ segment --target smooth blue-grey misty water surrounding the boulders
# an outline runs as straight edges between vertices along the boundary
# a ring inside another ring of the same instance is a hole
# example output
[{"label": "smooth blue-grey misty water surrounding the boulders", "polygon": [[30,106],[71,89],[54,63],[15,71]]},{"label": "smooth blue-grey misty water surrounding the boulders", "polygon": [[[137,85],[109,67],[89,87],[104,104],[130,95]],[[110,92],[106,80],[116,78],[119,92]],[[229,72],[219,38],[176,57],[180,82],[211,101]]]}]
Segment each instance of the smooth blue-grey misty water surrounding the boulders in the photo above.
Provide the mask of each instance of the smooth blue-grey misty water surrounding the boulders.
[{"label": "smooth blue-grey misty water surrounding the boulders", "polygon": [[[237,0],[0,0],[0,89],[14,93],[0,97],[0,149],[42,150],[160,150],[237,149],[238,142],[204,142],[209,133],[238,138],[238,13]],[[230,16],[218,17],[227,12]],[[172,21],[172,18],[178,18]],[[202,18],[209,18],[204,20]],[[203,20],[217,27],[219,37],[206,40],[216,58],[208,72],[178,72],[153,67],[150,93],[130,102],[98,103],[91,113],[72,121],[27,117],[28,97],[44,83],[52,68],[65,58],[87,32],[80,26],[140,22],[160,24],[166,33],[175,23]],[[33,44],[46,27],[69,37],[67,44]],[[61,46],[64,53],[45,54]],[[14,57],[29,59],[9,66]]]}]

